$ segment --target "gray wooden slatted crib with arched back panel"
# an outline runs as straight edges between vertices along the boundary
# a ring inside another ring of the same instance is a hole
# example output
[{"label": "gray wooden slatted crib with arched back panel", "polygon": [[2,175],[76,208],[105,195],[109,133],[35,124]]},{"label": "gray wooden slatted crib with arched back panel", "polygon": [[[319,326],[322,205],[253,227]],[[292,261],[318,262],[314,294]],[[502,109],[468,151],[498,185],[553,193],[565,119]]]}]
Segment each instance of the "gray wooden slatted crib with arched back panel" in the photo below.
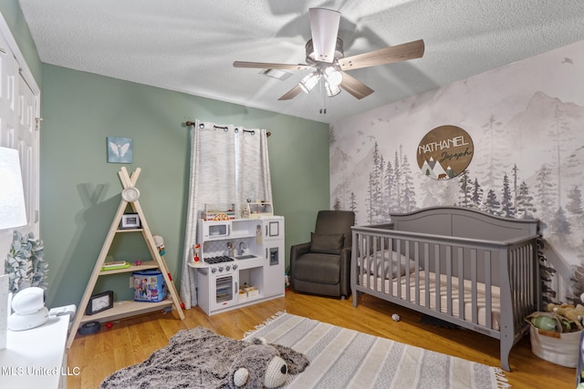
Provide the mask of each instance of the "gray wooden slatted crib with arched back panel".
[{"label": "gray wooden slatted crib with arched back panel", "polygon": [[540,310],[538,220],[460,207],[391,215],[352,228],[353,306],[360,293],[500,341],[501,367]]}]

